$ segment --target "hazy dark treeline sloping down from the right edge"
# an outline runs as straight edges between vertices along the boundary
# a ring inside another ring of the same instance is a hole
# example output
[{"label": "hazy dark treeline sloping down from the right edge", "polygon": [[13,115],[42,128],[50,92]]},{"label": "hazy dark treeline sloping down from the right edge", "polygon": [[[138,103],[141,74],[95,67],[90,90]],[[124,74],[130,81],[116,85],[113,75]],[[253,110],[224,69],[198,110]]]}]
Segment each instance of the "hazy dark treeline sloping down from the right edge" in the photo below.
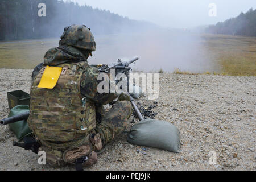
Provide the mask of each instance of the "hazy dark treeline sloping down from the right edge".
[{"label": "hazy dark treeline sloping down from the right edge", "polygon": [[241,13],[236,18],[205,28],[211,34],[230,34],[241,36],[256,36],[256,9],[252,8],[246,13]]}]

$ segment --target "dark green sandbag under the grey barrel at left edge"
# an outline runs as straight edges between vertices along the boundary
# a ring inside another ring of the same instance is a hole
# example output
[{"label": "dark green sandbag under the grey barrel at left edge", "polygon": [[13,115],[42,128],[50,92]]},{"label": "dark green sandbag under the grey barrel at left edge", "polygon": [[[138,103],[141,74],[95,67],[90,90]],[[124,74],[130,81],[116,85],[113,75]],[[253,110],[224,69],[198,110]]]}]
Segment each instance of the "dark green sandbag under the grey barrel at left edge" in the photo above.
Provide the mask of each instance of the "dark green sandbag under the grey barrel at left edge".
[{"label": "dark green sandbag under the grey barrel at left edge", "polygon": [[[29,111],[30,108],[28,105],[18,105],[13,107],[9,113],[9,117],[12,117],[16,114],[21,114],[24,112]],[[9,124],[11,131],[13,131],[17,137],[17,139],[20,141],[26,136],[32,135],[32,131],[28,127],[27,120],[18,121],[15,123]]]}]

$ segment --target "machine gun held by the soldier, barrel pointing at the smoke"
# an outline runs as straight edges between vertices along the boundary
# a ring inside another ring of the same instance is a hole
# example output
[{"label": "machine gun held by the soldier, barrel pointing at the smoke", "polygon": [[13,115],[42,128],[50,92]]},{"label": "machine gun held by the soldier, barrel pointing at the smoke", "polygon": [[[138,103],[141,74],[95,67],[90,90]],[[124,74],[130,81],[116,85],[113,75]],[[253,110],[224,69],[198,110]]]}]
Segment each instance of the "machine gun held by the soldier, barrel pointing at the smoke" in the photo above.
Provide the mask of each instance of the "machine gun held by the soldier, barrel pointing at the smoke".
[{"label": "machine gun held by the soldier, barrel pointing at the smoke", "polygon": [[[115,70],[115,77],[119,73],[123,73],[126,75],[127,78],[127,88],[129,88],[129,73],[131,71],[131,68],[129,65],[131,63],[134,63],[137,61],[139,57],[134,57],[134,59],[129,61],[122,61],[121,59],[118,59],[117,62],[111,63],[111,64],[99,64],[99,65],[92,65],[93,67],[97,67],[99,72],[103,73],[110,73],[111,69]],[[115,81],[117,83],[117,80]],[[129,90],[128,90],[129,92]]]}]

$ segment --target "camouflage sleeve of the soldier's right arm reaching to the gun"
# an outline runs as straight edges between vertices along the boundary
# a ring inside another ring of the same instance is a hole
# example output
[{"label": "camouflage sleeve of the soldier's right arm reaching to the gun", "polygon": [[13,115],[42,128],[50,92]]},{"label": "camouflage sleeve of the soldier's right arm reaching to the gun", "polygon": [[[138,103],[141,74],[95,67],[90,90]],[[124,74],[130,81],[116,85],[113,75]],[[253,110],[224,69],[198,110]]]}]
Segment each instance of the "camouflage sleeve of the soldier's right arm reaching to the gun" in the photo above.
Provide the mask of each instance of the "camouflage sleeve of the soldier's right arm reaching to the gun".
[{"label": "camouflage sleeve of the soldier's right arm reaching to the gun", "polygon": [[89,100],[96,102],[97,104],[106,105],[109,102],[115,100],[118,97],[117,93],[110,93],[110,78],[108,75],[104,74],[104,80],[109,80],[109,92],[108,93],[98,93],[98,84],[102,80],[97,80],[98,69],[94,67],[89,67],[81,77],[80,90],[81,94],[87,97]]}]

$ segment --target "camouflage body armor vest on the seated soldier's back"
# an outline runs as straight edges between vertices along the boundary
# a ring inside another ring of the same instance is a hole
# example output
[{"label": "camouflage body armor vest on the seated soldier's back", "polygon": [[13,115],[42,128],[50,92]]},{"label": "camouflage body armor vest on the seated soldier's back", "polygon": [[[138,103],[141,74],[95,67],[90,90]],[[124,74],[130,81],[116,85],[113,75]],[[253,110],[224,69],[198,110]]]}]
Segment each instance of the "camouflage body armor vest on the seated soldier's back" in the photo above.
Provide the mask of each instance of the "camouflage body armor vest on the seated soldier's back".
[{"label": "camouflage body armor vest on the seated soldier's back", "polygon": [[44,68],[32,82],[28,125],[43,145],[55,148],[59,142],[64,149],[89,138],[96,127],[96,111],[95,104],[86,101],[80,93],[81,76],[89,67],[88,63],[82,61],[57,67],[63,69],[53,89],[37,87]]}]

